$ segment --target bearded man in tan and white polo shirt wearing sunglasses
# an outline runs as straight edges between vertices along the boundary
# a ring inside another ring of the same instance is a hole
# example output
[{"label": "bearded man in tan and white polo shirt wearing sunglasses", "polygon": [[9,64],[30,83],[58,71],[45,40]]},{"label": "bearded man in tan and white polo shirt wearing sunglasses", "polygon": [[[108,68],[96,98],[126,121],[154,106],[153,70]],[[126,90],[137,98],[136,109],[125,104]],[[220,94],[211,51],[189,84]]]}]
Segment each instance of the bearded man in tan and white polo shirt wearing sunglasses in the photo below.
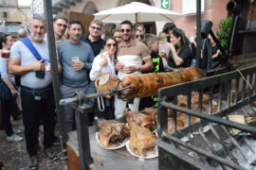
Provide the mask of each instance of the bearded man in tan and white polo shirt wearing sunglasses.
[{"label": "bearded man in tan and white polo shirt wearing sunglasses", "polygon": [[[119,71],[118,76],[121,80],[124,76],[137,75],[148,72],[153,69],[152,59],[148,47],[133,39],[133,25],[126,20],[120,24],[120,33],[122,42],[119,44],[118,62],[116,69]],[[133,111],[138,110],[140,98],[134,98],[129,102],[129,108]],[[115,116],[123,116],[127,101],[123,101],[115,96]]]}]

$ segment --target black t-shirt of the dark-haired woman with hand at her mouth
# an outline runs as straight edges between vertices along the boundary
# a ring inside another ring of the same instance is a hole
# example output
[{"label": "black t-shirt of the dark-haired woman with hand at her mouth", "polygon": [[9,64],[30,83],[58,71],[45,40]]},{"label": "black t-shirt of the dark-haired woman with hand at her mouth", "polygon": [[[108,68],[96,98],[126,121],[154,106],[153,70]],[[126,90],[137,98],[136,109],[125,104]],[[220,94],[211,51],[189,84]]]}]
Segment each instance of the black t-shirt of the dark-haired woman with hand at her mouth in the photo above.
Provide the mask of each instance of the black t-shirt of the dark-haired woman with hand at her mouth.
[{"label": "black t-shirt of the dark-haired woman with hand at her mouth", "polygon": [[179,67],[190,67],[192,64],[192,58],[191,58],[191,49],[190,47],[186,46],[182,48],[178,52],[178,57],[183,59],[183,63],[180,66],[176,66],[174,59],[173,59],[173,53],[172,51],[169,52],[168,55],[168,65],[173,68],[179,68]]}]

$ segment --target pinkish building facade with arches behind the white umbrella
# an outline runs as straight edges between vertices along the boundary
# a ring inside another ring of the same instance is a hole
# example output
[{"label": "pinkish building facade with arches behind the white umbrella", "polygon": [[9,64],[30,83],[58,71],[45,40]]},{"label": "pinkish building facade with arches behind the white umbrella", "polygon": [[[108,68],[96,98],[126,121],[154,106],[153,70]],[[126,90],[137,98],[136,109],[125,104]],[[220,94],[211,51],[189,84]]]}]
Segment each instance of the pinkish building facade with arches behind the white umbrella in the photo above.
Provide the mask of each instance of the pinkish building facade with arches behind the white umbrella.
[{"label": "pinkish building facade with arches behind the white umbrella", "polygon": [[[174,24],[182,28],[188,37],[193,35],[193,27],[196,25],[195,2],[196,0],[166,0],[170,3],[170,9],[183,13],[184,17],[175,21]],[[53,11],[68,15],[69,11],[94,14],[104,9],[116,8],[134,2],[134,0],[53,0]],[[71,3],[72,2],[72,3]],[[110,3],[111,2],[111,3]],[[151,6],[161,8],[163,0],[137,0]],[[229,0],[202,0],[202,20],[210,20],[213,23],[212,30],[217,31],[222,19],[227,18],[226,6]],[[161,31],[164,23],[156,22],[156,32]]]}]

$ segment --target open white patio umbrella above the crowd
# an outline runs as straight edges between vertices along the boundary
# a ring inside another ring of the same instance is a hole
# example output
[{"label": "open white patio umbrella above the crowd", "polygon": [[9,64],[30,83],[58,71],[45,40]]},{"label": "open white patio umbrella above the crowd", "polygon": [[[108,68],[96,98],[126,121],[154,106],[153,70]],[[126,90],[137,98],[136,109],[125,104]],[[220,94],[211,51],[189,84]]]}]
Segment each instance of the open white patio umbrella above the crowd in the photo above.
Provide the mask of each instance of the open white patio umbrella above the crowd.
[{"label": "open white patio umbrella above the crowd", "polygon": [[132,2],[130,4],[102,10],[94,14],[95,19],[102,22],[122,22],[129,20],[132,23],[143,22],[174,22],[183,15],[174,11],[152,7],[143,3]]}]

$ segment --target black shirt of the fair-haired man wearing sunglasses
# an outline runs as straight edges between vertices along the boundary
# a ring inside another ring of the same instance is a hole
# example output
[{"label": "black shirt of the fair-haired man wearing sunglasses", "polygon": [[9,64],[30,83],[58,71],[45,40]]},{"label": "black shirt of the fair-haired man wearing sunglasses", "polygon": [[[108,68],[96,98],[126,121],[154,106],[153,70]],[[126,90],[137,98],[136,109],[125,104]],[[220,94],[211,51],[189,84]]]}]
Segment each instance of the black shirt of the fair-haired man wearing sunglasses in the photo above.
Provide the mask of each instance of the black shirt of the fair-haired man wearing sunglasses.
[{"label": "black shirt of the fair-haired man wearing sunglasses", "polygon": [[95,57],[98,56],[101,52],[101,49],[104,48],[104,41],[101,38],[97,42],[91,42],[89,39],[89,35],[87,35],[82,36],[81,40],[82,42],[88,43],[92,47],[93,54]]}]

